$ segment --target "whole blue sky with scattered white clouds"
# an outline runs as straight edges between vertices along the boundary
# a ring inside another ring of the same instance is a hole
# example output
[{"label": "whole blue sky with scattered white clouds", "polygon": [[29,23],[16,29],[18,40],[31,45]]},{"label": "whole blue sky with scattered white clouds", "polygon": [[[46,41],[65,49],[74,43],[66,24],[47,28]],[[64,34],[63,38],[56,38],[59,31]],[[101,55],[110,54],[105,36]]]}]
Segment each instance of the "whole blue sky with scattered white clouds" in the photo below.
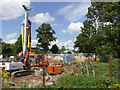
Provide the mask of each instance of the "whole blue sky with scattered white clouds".
[{"label": "whole blue sky with scattered white clouds", "polygon": [[[1,3],[2,2],[2,3]],[[48,23],[55,30],[59,48],[65,46],[73,49],[76,37],[81,33],[88,7],[91,2],[30,2],[29,0],[0,1],[0,37],[6,43],[15,43],[21,34],[21,23],[24,21],[22,5],[31,7],[29,19],[32,21],[32,47],[37,44],[35,31],[42,23]],[[51,48],[50,46],[50,48]]]}]

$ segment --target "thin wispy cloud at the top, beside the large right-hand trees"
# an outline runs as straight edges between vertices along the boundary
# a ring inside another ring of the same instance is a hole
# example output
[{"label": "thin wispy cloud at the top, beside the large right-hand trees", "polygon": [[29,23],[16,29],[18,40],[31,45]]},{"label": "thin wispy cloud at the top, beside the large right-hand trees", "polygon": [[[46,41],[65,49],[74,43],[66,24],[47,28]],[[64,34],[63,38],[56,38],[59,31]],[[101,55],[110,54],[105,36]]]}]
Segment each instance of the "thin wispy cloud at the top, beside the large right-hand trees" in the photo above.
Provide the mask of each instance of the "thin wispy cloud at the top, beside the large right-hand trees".
[{"label": "thin wispy cloud at the top, beside the large right-hand trees", "polygon": [[87,14],[89,6],[90,2],[71,4],[59,9],[57,13],[59,15],[64,15],[64,17],[70,22],[75,22],[82,19]]}]

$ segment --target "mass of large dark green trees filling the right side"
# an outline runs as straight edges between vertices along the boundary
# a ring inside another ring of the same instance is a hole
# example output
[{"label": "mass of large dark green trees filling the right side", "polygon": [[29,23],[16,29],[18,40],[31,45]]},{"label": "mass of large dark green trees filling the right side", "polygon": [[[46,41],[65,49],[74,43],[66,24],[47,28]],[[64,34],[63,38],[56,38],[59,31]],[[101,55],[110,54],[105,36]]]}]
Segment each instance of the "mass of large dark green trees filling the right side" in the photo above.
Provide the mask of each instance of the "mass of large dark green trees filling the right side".
[{"label": "mass of large dark green trees filling the right side", "polygon": [[97,53],[105,62],[108,61],[108,54],[119,57],[119,10],[118,2],[91,2],[82,33],[77,36],[74,47],[78,47],[79,52]]}]

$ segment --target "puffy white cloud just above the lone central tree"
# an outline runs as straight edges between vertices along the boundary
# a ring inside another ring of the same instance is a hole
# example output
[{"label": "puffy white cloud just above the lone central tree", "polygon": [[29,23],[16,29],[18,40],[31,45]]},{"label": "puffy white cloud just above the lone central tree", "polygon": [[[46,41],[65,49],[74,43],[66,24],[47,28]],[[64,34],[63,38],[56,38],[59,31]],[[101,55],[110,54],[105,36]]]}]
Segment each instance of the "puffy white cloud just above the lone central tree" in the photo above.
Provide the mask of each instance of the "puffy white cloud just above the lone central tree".
[{"label": "puffy white cloud just above the lone central tree", "polygon": [[37,24],[46,23],[46,22],[54,22],[55,18],[49,15],[49,13],[39,13],[35,16],[31,17],[32,22]]}]

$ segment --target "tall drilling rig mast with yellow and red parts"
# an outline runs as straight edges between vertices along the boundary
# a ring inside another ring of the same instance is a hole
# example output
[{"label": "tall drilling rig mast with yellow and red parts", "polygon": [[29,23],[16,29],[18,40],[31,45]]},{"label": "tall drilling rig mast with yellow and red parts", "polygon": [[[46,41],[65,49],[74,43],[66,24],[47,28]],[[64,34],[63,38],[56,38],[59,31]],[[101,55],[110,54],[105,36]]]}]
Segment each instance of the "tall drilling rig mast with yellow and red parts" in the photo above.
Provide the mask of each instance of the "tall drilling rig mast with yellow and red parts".
[{"label": "tall drilling rig mast with yellow and red parts", "polygon": [[[24,67],[29,68],[29,52],[31,52],[31,21],[28,19],[28,11],[31,8],[22,5],[25,10],[25,20],[21,24],[22,31],[22,55],[20,56],[20,61],[24,63]],[[19,53],[20,54],[20,53]]]}]

